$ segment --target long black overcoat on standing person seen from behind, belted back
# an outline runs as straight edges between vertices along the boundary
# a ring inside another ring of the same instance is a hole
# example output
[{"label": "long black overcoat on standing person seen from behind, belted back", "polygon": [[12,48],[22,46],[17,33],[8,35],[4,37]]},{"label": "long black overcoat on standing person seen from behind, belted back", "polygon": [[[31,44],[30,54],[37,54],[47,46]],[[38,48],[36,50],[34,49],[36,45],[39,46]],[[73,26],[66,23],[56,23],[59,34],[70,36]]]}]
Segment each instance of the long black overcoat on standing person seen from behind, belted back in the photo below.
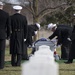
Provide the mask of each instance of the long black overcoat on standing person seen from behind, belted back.
[{"label": "long black overcoat on standing person seen from behind, belted back", "polygon": [[27,38],[27,19],[16,13],[11,16],[10,53],[24,53],[24,39]]}]

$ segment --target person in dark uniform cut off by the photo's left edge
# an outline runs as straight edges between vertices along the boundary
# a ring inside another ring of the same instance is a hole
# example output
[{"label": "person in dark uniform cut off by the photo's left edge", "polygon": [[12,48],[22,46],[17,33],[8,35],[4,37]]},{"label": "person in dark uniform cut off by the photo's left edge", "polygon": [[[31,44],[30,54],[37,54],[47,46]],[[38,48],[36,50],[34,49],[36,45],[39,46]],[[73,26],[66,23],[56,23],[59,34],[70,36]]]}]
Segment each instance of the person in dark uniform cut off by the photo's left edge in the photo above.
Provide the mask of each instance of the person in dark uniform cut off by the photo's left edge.
[{"label": "person in dark uniform cut off by the photo's left edge", "polygon": [[0,69],[4,68],[5,41],[10,36],[10,18],[9,14],[3,11],[3,3],[0,2]]}]

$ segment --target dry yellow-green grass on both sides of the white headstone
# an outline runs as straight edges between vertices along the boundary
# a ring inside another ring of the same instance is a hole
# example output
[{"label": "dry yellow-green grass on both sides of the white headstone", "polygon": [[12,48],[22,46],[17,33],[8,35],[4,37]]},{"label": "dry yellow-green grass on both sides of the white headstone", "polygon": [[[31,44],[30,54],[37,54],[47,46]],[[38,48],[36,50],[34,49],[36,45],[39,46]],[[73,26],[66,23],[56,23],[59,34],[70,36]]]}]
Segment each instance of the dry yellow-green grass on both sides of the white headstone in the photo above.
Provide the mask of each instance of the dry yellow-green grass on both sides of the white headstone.
[{"label": "dry yellow-green grass on both sides of the white headstone", "polygon": [[[29,49],[28,53],[30,53],[30,51]],[[57,49],[57,53],[60,55],[60,48]],[[5,68],[0,70],[0,75],[21,75],[21,67],[11,66],[11,58],[7,48],[5,55]],[[59,75],[75,75],[75,60],[72,64],[65,64],[64,60],[58,60],[57,63],[59,64]]]}]

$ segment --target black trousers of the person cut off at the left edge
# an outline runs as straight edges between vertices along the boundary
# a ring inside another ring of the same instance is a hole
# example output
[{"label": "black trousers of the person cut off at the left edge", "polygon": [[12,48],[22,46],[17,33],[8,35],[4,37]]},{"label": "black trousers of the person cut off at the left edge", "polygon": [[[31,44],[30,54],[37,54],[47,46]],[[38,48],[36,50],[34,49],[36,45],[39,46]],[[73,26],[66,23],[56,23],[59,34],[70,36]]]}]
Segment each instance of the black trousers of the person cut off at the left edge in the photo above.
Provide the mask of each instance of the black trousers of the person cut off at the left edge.
[{"label": "black trousers of the person cut off at the left edge", "polygon": [[5,39],[0,39],[0,69],[4,68],[5,59]]}]

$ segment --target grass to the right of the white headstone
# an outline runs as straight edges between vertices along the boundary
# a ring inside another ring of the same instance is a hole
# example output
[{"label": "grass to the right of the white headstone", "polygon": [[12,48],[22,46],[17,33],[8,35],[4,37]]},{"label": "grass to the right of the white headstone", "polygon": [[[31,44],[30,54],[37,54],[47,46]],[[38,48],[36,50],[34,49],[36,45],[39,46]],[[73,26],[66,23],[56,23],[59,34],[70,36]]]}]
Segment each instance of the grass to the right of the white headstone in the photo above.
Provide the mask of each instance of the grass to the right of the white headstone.
[{"label": "grass to the right of the white headstone", "polygon": [[[60,48],[57,48],[57,53],[61,55]],[[75,60],[72,64],[65,64],[64,61],[56,61],[59,64],[59,75],[75,75]]]}]

